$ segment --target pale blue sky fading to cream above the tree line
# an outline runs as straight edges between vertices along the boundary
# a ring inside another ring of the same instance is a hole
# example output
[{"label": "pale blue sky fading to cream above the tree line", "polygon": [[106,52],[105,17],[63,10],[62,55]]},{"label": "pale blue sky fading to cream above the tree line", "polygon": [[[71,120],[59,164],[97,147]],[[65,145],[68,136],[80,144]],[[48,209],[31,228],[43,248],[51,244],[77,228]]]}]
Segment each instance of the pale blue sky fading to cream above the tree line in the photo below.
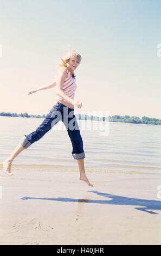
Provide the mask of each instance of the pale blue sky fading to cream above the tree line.
[{"label": "pale blue sky fading to cream above the tree line", "polygon": [[47,114],[75,50],[77,113],[161,119],[161,0],[0,0],[0,112]]}]

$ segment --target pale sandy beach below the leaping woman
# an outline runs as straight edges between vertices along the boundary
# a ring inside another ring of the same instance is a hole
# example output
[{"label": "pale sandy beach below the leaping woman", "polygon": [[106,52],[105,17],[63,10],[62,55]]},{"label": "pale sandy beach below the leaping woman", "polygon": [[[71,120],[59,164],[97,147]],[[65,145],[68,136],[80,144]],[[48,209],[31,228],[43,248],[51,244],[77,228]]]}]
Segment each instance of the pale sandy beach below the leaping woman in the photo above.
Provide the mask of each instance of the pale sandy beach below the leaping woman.
[{"label": "pale sandy beach below the leaping woman", "polygon": [[0,172],[0,245],[161,244],[160,174],[87,170],[89,187],[77,170],[12,166]]}]

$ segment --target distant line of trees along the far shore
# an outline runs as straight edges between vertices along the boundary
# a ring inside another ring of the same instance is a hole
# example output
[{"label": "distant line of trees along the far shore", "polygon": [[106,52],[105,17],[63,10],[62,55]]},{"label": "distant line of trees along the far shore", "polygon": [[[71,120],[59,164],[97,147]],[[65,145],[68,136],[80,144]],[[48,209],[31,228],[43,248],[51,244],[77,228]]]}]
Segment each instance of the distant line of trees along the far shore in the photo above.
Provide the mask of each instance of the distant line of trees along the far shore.
[{"label": "distant line of trees along the far shore", "polygon": [[[30,115],[27,112],[17,114],[17,113],[10,113],[10,112],[0,112],[0,115],[3,115],[5,117],[35,117],[35,118],[46,118],[47,115]],[[133,124],[156,124],[161,125],[161,119],[157,118],[149,118],[149,117],[142,117],[141,119],[139,117],[130,115],[124,115],[122,117],[121,115],[112,115],[108,117],[97,117],[94,115],[86,115],[86,114],[76,114],[75,117],[80,120],[92,120],[92,121],[111,121],[111,122],[121,122],[121,123],[133,123]]]}]

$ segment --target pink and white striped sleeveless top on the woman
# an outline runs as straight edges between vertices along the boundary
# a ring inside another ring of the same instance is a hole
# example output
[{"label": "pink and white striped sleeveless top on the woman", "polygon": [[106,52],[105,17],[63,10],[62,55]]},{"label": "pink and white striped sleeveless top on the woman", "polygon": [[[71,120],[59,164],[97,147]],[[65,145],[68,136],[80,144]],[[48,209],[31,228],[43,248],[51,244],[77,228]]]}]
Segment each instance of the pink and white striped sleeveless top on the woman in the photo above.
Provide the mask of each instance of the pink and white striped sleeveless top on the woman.
[{"label": "pink and white striped sleeveless top on the woman", "polygon": [[[67,77],[65,79],[65,82],[63,83],[62,92],[65,93],[68,97],[70,97],[72,100],[74,100],[74,92],[76,89],[76,83],[74,81],[74,78],[72,77],[72,74],[67,69]],[[56,99],[63,100],[62,97],[56,96]],[[66,102],[69,102],[67,100],[63,100]]]}]

